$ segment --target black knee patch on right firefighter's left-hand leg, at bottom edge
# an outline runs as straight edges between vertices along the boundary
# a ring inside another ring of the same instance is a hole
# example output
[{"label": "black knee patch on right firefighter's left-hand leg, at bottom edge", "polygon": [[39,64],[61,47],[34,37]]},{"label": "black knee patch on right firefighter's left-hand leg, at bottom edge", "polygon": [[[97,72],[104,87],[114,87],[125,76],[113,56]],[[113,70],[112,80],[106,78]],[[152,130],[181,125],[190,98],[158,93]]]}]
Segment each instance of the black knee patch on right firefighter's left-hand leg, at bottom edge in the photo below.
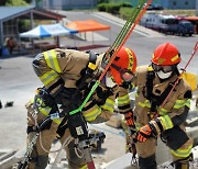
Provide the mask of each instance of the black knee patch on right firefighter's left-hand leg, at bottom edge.
[{"label": "black knee patch on right firefighter's left-hand leg, at bottom edge", "polygon": [[155,155],[152,155],[147,158],[139,157],[139,167],[140,169],[156,169]]}]

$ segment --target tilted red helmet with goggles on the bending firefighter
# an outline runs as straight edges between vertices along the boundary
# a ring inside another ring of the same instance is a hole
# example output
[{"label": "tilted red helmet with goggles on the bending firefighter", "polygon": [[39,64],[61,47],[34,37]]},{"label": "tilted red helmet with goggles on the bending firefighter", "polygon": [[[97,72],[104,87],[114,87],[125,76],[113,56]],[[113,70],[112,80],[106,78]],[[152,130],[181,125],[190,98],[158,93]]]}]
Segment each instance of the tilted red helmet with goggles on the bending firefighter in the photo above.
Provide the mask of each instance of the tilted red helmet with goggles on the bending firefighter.
[{"label": "tilted red helmet with goggles on the bending firefighter", "polygon": [[117,84],[130,81],[136,70],[136,56],[128,47],[121,47],[110,66],[110,71]]}]

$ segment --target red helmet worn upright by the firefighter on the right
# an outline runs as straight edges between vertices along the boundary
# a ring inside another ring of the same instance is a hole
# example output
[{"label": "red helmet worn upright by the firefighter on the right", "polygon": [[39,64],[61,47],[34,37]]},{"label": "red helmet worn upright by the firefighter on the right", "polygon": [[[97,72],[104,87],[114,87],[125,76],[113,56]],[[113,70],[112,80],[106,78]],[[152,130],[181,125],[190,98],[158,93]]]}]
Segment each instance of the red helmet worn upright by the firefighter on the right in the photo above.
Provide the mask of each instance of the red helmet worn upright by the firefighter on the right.
[{"label": "red helmet worn upright by the firefighter on the right", "polygon": [[180,54],[177,47],[170,43],[157,46],[153,53],[152,63],[155,65],[170,66],[180,63]]}]

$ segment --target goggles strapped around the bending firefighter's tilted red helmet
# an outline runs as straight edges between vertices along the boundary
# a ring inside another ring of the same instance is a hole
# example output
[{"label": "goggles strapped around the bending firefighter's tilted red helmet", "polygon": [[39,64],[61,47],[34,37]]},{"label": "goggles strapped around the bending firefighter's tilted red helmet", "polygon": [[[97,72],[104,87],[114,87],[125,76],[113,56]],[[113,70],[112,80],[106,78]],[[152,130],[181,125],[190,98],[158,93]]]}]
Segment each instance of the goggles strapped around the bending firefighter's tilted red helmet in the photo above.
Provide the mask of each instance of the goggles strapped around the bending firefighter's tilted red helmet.
[{"label": "goggles strapped around the bending firefighter's tilted red helmet", "polygon": [[120,77],[122,78],[122,80],[124,80],[125,82],[131,82],[134,74],[128,69],[122,69],[121,67],[111,64],[111,67],[113,67],[116,70],[118,70],[120,72]]}]

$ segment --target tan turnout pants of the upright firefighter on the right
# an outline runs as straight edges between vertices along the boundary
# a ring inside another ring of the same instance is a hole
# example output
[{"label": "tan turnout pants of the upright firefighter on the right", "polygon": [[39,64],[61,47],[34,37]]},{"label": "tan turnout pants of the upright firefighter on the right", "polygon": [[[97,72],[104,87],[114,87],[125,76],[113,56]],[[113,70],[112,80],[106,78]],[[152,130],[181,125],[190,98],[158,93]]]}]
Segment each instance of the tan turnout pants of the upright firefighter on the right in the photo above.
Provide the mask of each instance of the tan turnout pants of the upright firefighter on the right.
[{"label": "tan turnout pants of the upright firefighter on the right", "polygon": [[[189,160],[191,156],[193,138],[187,136],[187,140],[184,144],[182,143],[182,145],[177,146],[174,145],[175,137],[178,137],[178,134],[172,135],[170,137],[168,136],[166,138],[166,145],[169,147],[170,154],[173,156],[174,167],[175,169],[188,169]],[[139,158],[140,169],[156,169],[156,161],[155,161],[156,139],[151,138],[147,139],[145,143],[136,143],[135,146],[136,146],[138,155],[140,157]]]}]

